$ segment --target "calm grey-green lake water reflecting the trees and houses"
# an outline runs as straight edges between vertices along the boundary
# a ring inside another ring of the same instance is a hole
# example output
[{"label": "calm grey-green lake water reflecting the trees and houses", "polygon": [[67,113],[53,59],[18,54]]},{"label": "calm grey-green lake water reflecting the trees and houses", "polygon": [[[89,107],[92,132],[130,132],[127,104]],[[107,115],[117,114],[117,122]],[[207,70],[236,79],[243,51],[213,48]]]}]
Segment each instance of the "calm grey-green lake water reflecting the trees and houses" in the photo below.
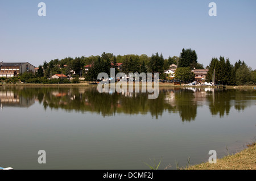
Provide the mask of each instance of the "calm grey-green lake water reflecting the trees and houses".
[{"label": "calm grey-green lake water reflecting the trees and houses", "polygon": [[14,169],[148,169],[150,158],[176,169],[256,137],[254,90],[160,89],[148,99],[96,87],[1,86],[0,101],[0,166]]}]

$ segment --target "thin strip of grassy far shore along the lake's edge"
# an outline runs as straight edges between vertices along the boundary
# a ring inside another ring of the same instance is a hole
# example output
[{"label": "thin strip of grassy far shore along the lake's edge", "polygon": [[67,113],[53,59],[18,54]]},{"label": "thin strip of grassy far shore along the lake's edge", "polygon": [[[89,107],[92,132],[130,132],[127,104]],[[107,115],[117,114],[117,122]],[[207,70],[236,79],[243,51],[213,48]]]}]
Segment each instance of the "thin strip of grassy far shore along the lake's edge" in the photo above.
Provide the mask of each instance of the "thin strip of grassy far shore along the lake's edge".
[{"label": "thin strip of grassy far shore along the lake's edge", "polygon": [[[109,84],[110,85],[110,84]],[[127,83],[128,85],[128,83]],[[154,85],[154,83],[152,83]],[[66,83],[66,84],[43,84],[43,83],[0,83],[0,86],[28,86],[28,87],[88,87],[88,86],[97,86],[95,83]],[[193,87],[193,88],[224,88],[224,89],[253,89],[256,90],[256,85],[243,85],[243,86],[185,86],[185,85],[174,85],[174,83],[162,83],[159,82],[159,87]]]}]

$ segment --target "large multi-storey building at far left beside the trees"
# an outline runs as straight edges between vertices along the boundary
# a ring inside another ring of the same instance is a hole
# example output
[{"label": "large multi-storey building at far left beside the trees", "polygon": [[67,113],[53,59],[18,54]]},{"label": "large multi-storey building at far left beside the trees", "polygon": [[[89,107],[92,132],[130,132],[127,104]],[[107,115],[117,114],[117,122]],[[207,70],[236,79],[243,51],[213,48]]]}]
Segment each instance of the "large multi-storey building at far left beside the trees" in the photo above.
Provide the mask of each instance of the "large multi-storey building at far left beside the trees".
[{"label": "large multi-storey building at far left beside the trees", "polygon": [[26,71],[35,73],[35,66],[28,62],[0,62],[0,77],[17,77]]}]

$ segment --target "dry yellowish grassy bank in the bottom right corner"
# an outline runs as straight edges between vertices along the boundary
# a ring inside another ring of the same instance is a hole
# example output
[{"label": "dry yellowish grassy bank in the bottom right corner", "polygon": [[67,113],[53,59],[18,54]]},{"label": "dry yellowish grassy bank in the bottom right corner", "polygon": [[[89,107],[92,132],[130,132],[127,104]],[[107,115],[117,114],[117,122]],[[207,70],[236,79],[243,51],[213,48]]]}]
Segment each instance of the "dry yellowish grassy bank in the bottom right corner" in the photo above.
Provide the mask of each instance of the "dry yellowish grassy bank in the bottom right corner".
[{"label": "dry yellowish grassy bank in the bottom right corner", "polygon": [[239,153],[217,159],[217,163],[209,162],[189,166],[186,170],[256,170],[256,144],[247,145],[248,148]]}]

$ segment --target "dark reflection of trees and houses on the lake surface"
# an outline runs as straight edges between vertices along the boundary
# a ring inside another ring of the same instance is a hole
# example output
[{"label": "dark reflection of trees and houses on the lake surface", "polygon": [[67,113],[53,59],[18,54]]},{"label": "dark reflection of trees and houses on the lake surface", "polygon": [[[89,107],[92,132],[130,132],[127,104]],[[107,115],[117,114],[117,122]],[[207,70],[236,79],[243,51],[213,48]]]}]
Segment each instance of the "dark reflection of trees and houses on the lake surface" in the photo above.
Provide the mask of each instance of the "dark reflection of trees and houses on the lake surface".
[{"label": "dark reflection of trees and houses on the lake surface", "polygon": [[[15,103],[10,104],[10,100]],[[8,101],[7,101],[8,98]],[[16,99],[20,101],[17,101]],[[141,114],[159,119],[163,112],[179,113],[182,121],[196,119],[197,107],[207,105],[213,116],[229,115],[234,106],[243,111],[250,104],[247,100],[255,100],[254,90],[221,89],[183,89],[179,87],[160,89],[157,99],[148,99],[148,93],[99,93],[97,87],[0,87],[1,106],[31,106],[35,102],[44,109],[61,109],[81,113],[93,112],[105,116],[115,114]],[[23,101],[21,101],[23,100]],[[26,101],[24,101],[26,100]],[[21,103],[22,102],[22,105]],[[25,105],[26,104],[26,105]]]}]

